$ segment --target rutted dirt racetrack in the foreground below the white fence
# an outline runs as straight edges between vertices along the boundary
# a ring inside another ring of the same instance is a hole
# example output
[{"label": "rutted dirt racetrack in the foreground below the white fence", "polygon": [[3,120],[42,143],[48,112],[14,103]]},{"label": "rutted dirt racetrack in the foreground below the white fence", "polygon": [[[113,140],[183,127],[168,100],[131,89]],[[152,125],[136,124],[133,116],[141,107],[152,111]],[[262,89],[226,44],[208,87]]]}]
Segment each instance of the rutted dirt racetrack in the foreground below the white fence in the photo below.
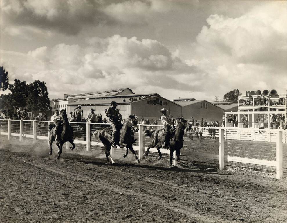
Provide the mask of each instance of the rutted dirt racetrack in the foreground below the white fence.
[{"label": "rutted dirt racetrack in the foreground below the white fence", "polygon": [[287,179],[1,138],[0,222],[287,222]]}]

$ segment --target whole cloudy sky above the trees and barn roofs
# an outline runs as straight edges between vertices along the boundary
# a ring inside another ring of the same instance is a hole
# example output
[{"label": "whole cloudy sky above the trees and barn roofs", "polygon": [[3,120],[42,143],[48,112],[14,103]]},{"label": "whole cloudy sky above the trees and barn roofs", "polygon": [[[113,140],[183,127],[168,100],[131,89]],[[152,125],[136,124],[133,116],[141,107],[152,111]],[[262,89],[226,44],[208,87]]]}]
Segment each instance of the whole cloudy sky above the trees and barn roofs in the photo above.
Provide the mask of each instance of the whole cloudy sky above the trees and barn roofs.
[{"label": "whole cloudy sky above the trees and barn roofs", "polygon": [[[49,97],[287,89],[287,1],[1,0],[0,66]],[[6,91],[7,92],[7,91]],[[5,93],[5,92],[4,92]]]}]

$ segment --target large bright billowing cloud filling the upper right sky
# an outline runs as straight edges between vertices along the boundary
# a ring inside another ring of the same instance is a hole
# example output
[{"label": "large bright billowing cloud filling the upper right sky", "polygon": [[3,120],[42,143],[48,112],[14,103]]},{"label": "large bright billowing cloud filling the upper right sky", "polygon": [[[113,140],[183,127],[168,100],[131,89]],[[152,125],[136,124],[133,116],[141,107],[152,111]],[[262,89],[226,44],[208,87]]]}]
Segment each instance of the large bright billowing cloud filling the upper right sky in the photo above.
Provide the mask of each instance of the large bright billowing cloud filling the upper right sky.
[{"label": "large bright billowing cloud filling the upper right sky", "polygon": [[199,84],[212,95],[233,88],[286,92],[286,15],[286,2],[277,1],[238,18],[210,15],[185,62],[205,71]]}]

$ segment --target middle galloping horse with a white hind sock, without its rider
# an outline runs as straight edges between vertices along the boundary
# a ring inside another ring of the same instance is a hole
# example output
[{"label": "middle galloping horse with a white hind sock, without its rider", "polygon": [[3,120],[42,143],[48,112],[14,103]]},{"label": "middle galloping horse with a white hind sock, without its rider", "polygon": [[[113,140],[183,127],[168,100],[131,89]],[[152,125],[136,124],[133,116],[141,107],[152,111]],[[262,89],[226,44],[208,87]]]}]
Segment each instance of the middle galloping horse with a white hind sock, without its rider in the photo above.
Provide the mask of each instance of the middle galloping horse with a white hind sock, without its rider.
[{"label": "middle galloping horse with a white hind sock, without its rider", "polygon": [[[131,131],[133,130],[133,132]],[[136,152],[133,150],[133,143],[135,143],[135,140],[133,139],[133,133],[138,132],[138,125],[136,118],[132,115],[129,115],[129,118],[126,122],[124,122],[124,126],[122,127],[120,131],[120,144],[124,143],[126,144],[126,153],[124,154],[124,158],[128,155],[128,149],[131,150],[131,152],[135,155],[136,160],[138,163],[140,163],[140,160],[138,159]],[[96,140],[100,140],[105,147],[105,153],[107,158],[107,163],[109,162],[109,157],[111,159],[111,163],[115,163],[113,158],[111,157],[110,151],[111,151],[111,128],[104,128],[102,130],[96,130],[93,133],[93,137]]]}]

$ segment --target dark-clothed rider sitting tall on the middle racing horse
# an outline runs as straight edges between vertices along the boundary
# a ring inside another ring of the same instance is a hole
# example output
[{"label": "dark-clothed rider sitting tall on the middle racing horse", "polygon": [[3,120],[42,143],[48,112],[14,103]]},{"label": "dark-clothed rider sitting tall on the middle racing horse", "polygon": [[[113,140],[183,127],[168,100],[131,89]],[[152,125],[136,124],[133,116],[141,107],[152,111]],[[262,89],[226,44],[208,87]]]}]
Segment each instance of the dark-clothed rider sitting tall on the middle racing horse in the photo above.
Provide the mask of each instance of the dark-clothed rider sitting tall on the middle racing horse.
[{"label": "dark-clothed rider sitting tall on the middle racing horse", "polygon": [[112,140],[111,140],[113,147],[118,146],[120,143],[120,130],[123,126],[121,123],[122,115],[119,113],[119,110],[116,109],[116,107],[117,102],[112,101],[111,107],[109,107],[106,111],[106,116],[109,118],[111,127],[113,129]]}]

